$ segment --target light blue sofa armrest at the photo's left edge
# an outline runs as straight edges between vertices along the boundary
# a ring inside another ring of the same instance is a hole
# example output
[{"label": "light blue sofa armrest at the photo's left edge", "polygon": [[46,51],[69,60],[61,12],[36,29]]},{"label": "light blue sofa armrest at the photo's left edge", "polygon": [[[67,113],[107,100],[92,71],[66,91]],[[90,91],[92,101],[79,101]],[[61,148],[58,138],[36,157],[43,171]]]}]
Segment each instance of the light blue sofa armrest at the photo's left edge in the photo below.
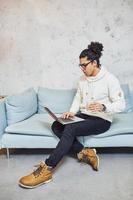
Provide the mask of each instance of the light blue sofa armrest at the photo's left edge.
[{"label": "light blue sofa armrest at the photo's left edge", "polygon": [[7,126],[5,99],[0,100],[0,138]]}]

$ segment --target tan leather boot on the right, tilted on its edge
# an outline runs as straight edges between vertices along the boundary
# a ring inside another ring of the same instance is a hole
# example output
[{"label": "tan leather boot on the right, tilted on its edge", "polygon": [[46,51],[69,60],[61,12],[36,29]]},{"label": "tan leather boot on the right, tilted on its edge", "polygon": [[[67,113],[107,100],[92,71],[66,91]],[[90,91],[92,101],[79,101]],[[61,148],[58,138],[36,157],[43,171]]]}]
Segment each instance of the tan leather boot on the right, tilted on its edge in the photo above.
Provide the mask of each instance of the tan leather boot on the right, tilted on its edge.
[{"label": "tan leather boot on the right, tilted on its edge", "polygon": [[92,168],[98,171],[99,157],[96,154],[96,149],[84,148],[77,154],[78,160],[90,164]]}]

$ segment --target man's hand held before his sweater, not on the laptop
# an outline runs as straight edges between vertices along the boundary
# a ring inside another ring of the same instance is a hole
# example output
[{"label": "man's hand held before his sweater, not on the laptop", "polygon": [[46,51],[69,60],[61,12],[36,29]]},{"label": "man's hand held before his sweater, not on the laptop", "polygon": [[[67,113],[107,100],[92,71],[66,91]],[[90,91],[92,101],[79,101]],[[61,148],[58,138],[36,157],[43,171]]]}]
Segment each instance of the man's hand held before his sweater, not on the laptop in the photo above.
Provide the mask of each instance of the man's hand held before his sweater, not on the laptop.
[{"label": "man's hand held before his sweater, not on the laptop", "polygon": [[101,103],[94,102],[94,103],[87,104],[86,109],[92,112],[102,112],[104,109],[104,106]]}]

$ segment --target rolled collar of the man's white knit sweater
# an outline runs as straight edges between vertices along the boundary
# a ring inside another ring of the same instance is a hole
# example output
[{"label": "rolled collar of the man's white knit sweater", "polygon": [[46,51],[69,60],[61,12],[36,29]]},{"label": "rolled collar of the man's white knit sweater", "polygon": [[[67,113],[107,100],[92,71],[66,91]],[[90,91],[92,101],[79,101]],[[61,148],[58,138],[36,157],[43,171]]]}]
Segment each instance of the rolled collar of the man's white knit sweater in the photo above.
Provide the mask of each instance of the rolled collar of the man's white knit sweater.
[{"label": "rolled collar of the man's white knit sweater", "polygon": [[107,73],[107,70],[104,67],[102,67],[96,76],[86,77],[86,80],[88,82],[98,81],[98,80],[102,79],[106,73]]}]

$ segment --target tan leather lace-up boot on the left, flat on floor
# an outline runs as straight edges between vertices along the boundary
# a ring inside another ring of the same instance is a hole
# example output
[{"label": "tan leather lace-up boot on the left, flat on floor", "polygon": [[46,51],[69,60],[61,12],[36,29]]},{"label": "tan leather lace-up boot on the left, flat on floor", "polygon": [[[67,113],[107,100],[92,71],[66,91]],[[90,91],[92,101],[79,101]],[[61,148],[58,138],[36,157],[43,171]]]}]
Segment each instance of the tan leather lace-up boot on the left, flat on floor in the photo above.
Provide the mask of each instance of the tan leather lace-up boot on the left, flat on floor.
[{"label": "tan leather lace-up boot on the left, flat on floor", "polygon": [[22,177],[19,185],[24,188],[35,188],[52,180],[52,172],[44,162],[37,165],[37,169],[31,174]]}]

